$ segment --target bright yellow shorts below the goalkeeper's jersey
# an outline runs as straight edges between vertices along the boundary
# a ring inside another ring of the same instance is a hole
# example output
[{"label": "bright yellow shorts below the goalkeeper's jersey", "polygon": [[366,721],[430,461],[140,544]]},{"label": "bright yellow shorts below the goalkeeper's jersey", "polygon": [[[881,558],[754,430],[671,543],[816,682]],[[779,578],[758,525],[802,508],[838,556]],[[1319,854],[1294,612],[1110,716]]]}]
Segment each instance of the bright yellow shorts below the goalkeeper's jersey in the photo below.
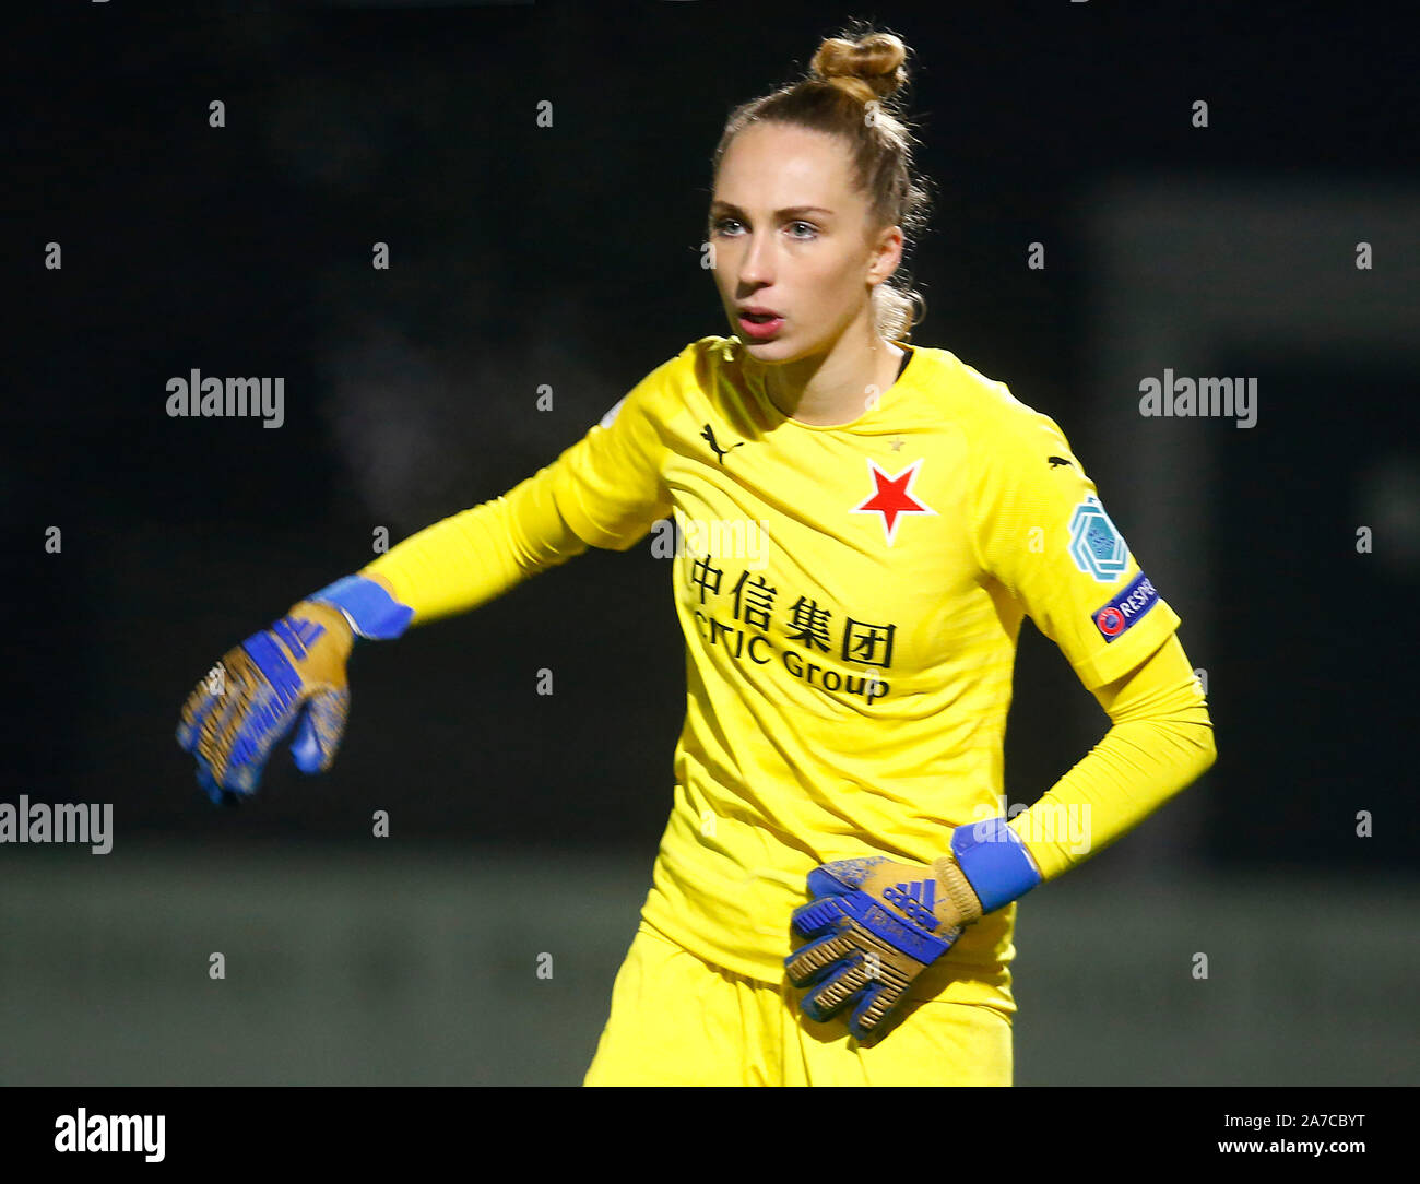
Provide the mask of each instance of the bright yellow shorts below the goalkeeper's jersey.
[{"label": "bright yellow shorts below the goalkeeper's jersey", "polygon": [[994,1007],[906,1001],[863,1048],[841,1018],[805,1016],[801,994],[713,965],[643,920],[582,1085],[1011,1085],[1011,1018]]}]

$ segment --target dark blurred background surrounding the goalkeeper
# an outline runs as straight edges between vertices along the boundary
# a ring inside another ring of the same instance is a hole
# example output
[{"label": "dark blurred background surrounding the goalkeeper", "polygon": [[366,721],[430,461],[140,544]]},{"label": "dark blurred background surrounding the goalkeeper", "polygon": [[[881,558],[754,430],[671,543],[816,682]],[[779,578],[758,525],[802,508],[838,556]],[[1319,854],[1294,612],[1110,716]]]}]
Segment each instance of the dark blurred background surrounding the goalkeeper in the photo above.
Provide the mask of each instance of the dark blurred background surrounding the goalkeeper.
[{"label": "dark blurred background surrounding the goalkeeper", "polygon": [[[112,802],[116,833],[102,859],[0,848],[0,1021],[16,1039],[0,1079],[579,1080],[649,886],[684,706],[669,566],[649,545],[591,552],[474,613],[361,646],[325,777],[280,754],[257,799],[219,811],[172,731],[212,662],[368,562],[375,528],[399,539],[507,491],[684,344],[730,331],[700,267],[711,149],[738,102],[792,81],[861,16],[916,54],[909,112],[936,202],[909,257],[929,305],[913,339],[1061,423],[1136,554],[1160,557],[1147,569],[1173,565],[1173,583],[1154,579],[1210,677],[1214,769],[1135,842],[1031,897],[1037,920],[1022,906],[1018,1082],[1416,1082],[1397,1049],[1416,1038],[1403,967],[1417,894],[1420,315],[1393,309],[1411,329],[1400,341],[1278,346],[1240,332],[1214,358],[1146,359],[1146,373],[1255,375],[1262,393],[1251,430],[1149,424],[1206,437],[1211,467],[1206,481],[1152,473],[1167,512],[1136,515],[1122,424],[1139,430],[1137,390],[1091,378],[1115,327],[1091,297],[1085,224],[1105,183],[1287,183],[1359,210],[1325,244],[1328,300],[1366,283],[1356,241],[1373,241],[1377,271],[1414,270],[1420,217],[1403,236],[1366,217],[1372,196],[1420,207],[1413,17],[1389,11],[31,14],[11,40],[4,122],[3,789]],[[223,129],[207,125],[214,98]],[[1198,98],[1207,129],[1190,125]],[[544,101],[551,128],[535,121]],[[43,265],[50,241],[60,271]],[[375,241],[390,246],[389,271],[371,267]],[[1047,244],[1044,271],[1025,265],[1032,241]],[[1287,268],[1255,281],[1264,302],[1294,284]],[[1314,312],[1325,322],[1328,301]],[[192,368],[283,375],[284,426],[168,417],[165,382]],[[535,407],[542,383],[551,412]],[[1169,530],[1140,535],[1159,521]],[[1375,552],[1358,555],[1366,522]],[[1173,524],[1207,539],[1206,579]],[[535,694],[541,667],[551,697]],[[1105,727],[1027,626],[1010,799],[1034,801]],[[389,839],[371,838],[375,809],[390,812]],[[1356,836],[1358,811],[1373,815],[1370,838]],[[535,893],[530,936],[508,901]],[[234,971],[226,998],[195,1002],[212,995],[207,951],[243,940],[261,974]],[[1233,957],[1198,984],[1187,960],[1208,943]],[[547,948],[569,968],[540,984],[531,951]],[[233,1011],[257,977],[285,994]],[[332,1014],[321,982],[354,992],[349,1022],[324,1035],[290,1019],[297,997]],[[527,998],[540,987],[554,1002]],[[524,1008],[525,1026],[490,1015],[496,999]],[[175,1011],[186,1019],[159,1052],[158,1016]],[[474,1012],[490,1022],[449,1019]],[[1292,1015],[1335,1045],[1294,1039]],[[1363,1021],[1375,1028],[1360,1038],[1348,1025]]]}]

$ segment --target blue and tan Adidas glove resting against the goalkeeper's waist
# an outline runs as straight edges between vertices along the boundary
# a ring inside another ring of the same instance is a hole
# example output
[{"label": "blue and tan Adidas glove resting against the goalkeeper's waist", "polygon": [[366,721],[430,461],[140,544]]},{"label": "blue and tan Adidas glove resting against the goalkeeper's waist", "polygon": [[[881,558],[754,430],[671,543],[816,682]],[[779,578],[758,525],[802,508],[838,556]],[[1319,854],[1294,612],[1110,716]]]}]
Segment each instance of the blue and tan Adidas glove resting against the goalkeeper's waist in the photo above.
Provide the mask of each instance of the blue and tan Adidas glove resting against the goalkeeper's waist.
[{"label": "blue and tan Adidas glove resting against the goalkeeper's waist", "polygon": [[815,867],[814,900],[794,910],[794,928],[812,940],[784,960],[790,981],[812,988],[804,1014],[822,1022],[853,1004],[849,1031],[859,1041],[880,1035],[912,980],[966,926],[1038,883],[1035,860],[1004,818],[958,826],[951,853],[930,867],[886,856]]}]

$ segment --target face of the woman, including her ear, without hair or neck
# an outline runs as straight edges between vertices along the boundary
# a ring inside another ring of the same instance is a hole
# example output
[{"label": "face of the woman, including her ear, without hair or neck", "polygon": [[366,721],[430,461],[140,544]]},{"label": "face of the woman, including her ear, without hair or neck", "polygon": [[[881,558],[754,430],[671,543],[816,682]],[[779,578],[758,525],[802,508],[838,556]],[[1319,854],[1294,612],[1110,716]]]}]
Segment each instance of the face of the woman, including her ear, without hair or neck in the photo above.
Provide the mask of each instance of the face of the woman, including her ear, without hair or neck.
[{"label": "face of the woman, including her ear, without hair or neck", "polygon": [[[902,257],[897,227],[872,233],[842,141],[781,124],[751,124],[721,158],[710,244],[731,331],[761,362],[831,349]],[[777,317],[753,324],[746,307]]]}]

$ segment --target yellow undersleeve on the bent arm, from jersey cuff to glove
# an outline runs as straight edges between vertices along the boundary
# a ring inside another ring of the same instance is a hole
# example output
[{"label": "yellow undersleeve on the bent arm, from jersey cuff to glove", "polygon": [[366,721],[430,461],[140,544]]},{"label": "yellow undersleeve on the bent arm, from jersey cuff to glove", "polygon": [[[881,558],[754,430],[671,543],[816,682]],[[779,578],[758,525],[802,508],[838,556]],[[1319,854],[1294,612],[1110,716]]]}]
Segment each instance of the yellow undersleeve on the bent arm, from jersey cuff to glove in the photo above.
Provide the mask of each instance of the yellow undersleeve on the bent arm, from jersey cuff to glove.
[{"label": "yellow undersleeve on the bent arm, from jersey cuff to glove", "polygon": [[1093,694],[1113,727],[1008,823],[1045,880],[1109,846],[1217,760],[1207,700],[1176,633]]}]

